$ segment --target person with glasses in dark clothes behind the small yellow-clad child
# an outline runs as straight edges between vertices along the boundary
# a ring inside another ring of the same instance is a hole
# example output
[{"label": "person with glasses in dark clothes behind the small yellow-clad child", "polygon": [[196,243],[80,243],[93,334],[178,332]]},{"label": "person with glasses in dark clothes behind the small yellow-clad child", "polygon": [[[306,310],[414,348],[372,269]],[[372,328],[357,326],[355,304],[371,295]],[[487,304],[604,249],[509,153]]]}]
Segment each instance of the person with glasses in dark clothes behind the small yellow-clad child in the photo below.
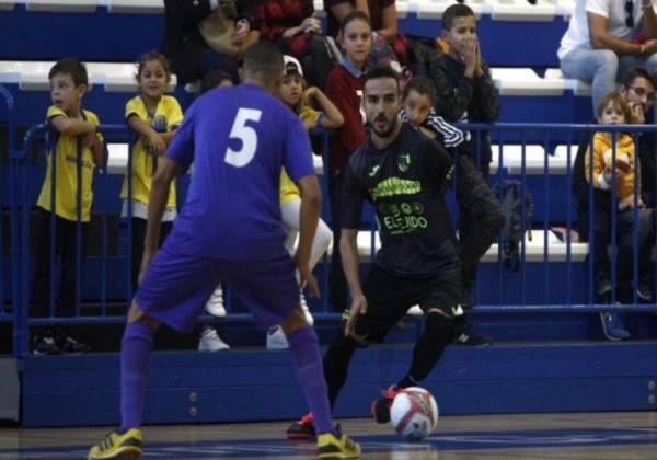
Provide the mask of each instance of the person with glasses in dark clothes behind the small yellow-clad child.
[{"label": "person with glasses in dark clothes behind the small yellow-clad child", "polygon": [[[623,74],[620,95],[627,102],[631,110],[631,123],[645,124],[646,116],[655,100],[655,90],[657,83],[650,72],[634,67]],[[573,195],[577,198],[577,225],[576,230],[579,241],[589,241],[589,184],[585,177],[584,157],[589,148],[591,136],[586,133],[577,148],[577,156],[573,165]],[[636,140],[637,157],[641,164],[641,191],[642,199],[648,208],[655,208],[655,136],[653,133],[642,133]],[[610,240],[611,216],[609,214],[609,194],[592,189],[595,203],[607,203],[607,206],[595,206],[593,228],[601,238],[601,241]],[[604,237],[607,234],[607,237]],[[599,241],[600,239],[596,239]],[[607,301],[611,292],[610,261],[607,252],[607,244],[595,244],[593,257],[596,261],[596,271],[598,273],[596,281],[597,301]],[[639,279],[636,290],[642,301],[652,299],[650,284],[647,278]]]}]

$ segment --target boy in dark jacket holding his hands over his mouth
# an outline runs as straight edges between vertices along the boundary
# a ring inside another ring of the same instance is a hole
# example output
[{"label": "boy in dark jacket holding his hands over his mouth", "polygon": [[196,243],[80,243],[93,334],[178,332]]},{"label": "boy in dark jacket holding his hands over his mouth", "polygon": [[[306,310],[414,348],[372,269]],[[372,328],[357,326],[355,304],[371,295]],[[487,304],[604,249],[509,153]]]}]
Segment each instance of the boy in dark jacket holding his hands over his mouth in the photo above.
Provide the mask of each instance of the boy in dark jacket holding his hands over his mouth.
[{"label": "boy in dark jacket holding his hands over his mouth", "polygon": [[[447,54],[434,54],[428,59],[428,77],[436,84],[436,112],[450,123],[494,123],[499,117],[499,97],[491,71],[482,58],[476,35],[476,18],[465,4],[452,4],[442,15],[441,37],[448,45]],[[491,140],[487,131],[476,131],[474,139],[466,133],[466,142],[460,147],[457,172],[471,175],[471,164],[481,170],[486,185],[491,163]],[[472,163],[471,163],[472,161]],[[472,172],[474,175],[474,172]],[[459,174],[457,174],[457,183]],[[477,181],[479,182],[479,181]],[[464,185],[464,184],[463,184]],[[461,193],[459,193],[461,191]],[[472,289],[480,257],[497,238],[504,226],[498,205],[493,204],[486,191],[482,199],[471,191],[457,185],[459,198],[459,238],[463,257],[460,304],[472,307]],[[486,197],[485,199],[483,197]],[[476,243],[474,243],[476,241]],[[460,319],[458,321],[461,321]],[[460,327],[462,324],[460,325]],[[458,335],[458,337],[461,335]],[[466,337],[468,334],[463,335]],[[457,337],[457,338],[458,338]],[[485,337],[484,337],[485,338]],[[479,344],[479,338],[473,338]]]}]

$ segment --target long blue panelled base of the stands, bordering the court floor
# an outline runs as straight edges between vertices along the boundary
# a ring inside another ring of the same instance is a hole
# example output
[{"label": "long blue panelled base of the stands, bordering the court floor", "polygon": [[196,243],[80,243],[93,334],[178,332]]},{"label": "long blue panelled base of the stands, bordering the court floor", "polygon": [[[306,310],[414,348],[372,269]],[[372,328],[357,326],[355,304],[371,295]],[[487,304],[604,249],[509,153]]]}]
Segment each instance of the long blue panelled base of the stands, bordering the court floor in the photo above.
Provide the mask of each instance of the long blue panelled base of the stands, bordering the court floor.
[{"label": "long blue panelled base of the stands, bordering the court floor", "polygon": [[[336,417],[367,417],[412,347],[358,350]],[[145,423],[291,421],[307,412],[288,352],[155,353]],[[118,423],[118,354],[26,356],[22,425]],[[442,414],[655,410],[653,342],[450,347],[422,386]],[[71,411],[71,407],[76,407]]]}]

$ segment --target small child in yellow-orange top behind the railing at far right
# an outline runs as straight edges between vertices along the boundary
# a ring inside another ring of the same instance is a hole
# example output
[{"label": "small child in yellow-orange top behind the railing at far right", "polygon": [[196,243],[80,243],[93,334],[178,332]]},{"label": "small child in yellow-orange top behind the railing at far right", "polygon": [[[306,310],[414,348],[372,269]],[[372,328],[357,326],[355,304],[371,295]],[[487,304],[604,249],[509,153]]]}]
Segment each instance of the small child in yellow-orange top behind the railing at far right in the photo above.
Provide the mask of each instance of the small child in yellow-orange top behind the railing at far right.
[{"label": "small child in yellow-orange top behind the railing at far right", "polygon": [[[632,119],[632,113],[626,100],[618,92],[602,97],[598,105],[598,123],[600,125],[622,125]],[[633,301],[636,288],[634,283],[634,251],[638,255],[638,278],[645,278],[650,263],[650,240],[653,234],[652,212],[646,209],[641,197],[641,185],[637,174],[641,166],[636,163],[634,139],[624,133],[597,131],[593,135],[592,148],[587,150],[584,159],[586,179],[593,188],[601,192],[600,199],[595,202],[596,222],[601,218],[614,215],[619,237],[616,286],[618,300],[621,303]],[[610,191],[614,189],[615,193]],[[607,195],[607,196],[602,196]],[[637,208],[637,209],[634,209]],[[595,245],[607,252],[609,243],[609,221],[595,226]],[[637,248],[634,246],[635,231],[638,234]],[[612,248],[614,244],[612,244]],[[598,253],[599,251],[596,251]],[[597,288],[609,285],[609,273],[600,269],[593,255],[596,266]],[[600,313],[604,335],[609,340],[629,338],[622,315],[618,313]]]}]

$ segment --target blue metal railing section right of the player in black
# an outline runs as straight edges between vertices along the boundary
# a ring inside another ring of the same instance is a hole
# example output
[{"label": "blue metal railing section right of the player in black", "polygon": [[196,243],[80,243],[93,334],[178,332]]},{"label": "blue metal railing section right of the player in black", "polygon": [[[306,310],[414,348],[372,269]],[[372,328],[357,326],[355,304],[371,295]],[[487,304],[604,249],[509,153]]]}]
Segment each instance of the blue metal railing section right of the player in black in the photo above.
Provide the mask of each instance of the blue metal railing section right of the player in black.
[{"label": "blue metal railing section right of the player in black", "polygon": [[[623,311],[656,311],[654,303],[639,303],[636,291],[632,295],[632,306],[615,306],[615,288],[616,288],[616,217],[618,209],[611,206],[611,222],[612,238],[610,242],[610,261],[611,261],[611,304],[600,302],[596,295],[595,285],[595,264],[593,253],[596,244],[606,244],[597,242],[593,239],[593,187],[587,185],[588,202],[588,234],[586,235],[586,245],[573,240],[575,227],[576,199],[572,195],[573,186],[573,163],[576,158],[578,145],[580,141],[587,140],[592,143],[592,136],[601,128],[598,125],[570,125],[570,124],[470,124],[461,126],[463,129],[472,131],[473,137],[481,138],[483,133],[489,131],[493,146],[498,146],[497,151],[493,154],[493,168],[489,176],[489,182],[502,182],[508,177],[515,177],[522,184],[523,193],[529,191],[534,196],[534,221],[532,229],[534,230],[534,240],[532,242],[525,241],[520,244],[520,261],[521,267],[518,273],[509,273],[503,264],[502,251],[497,252],[497,299],[488,299],[487,301],[476,302],[476,310],[481,312],[500,312],[500,311],[555,311],[555,312],[600,312],[622,309]],[[654,135],[657,133],[656,126],[647,125],[615,125],[606,126],[606,133],[611,133],[613,138],[620,133],[631,134],[635,140],[638,136],[646,134]],[[481,143],[481,142],[480,142]],[[532,149],[540,147],[540,149]],[[514,151],[510,151],[515,149]],[[534,150],[531,152],[531,150]],[[535,152],[535,150],[539,150]],[[613,161],[615,161],[615,147],[613,150]],[[652,146],[653,156],[657,150]],[[512,153],[507,156],[506,153]],[[511,158],[509,158],[511,157]],[[636,157],[638,158],[638,147],[636,148]],[[591,165],[592,168],[592,165]],[[638,162],[634,165],[638,168]],[[555,172],[556,171],[556,172]],[[615,170],[613,170],[615,180]],[[638,170],[636,170],[638,171]],[[646,172],[648,173],[648,172]],[[638,174],[635,174],[638,177]],[[635,189],[637,182],[635,182]],[[652,191],[655,193],[656,191]],[[615,187],[610,191],[610,200],[615,203]],[[538,197],[538,199],[537,199]],[[525,198],[525,196],[523,196]],[[525,199],[521,203],[525,205]],[[556,205],[554,204],[556,202]],[[634,220],[637,218],[637,210],[634,209]],[[566,231],[561,241],[554,241],[555,233],[552,229],[555,226],[563,227]],[[525,234],[525,228],[522,232]],[[542,231],[540,234],[541,241],[535,240],[535,230]],[[638,230],[635,226],[634,231],[634,266],[633,266],[633,283],[637,283],[637,234]],[[653,244],[657,242],[657,233],[653,232]],[[580,235],[581,237],[581,235]],[[533,243],[533,244],[532,244]],[[538,250],[538,252],[537,252]],[[578,251],[575,251],[578,250]],[[575,286],[577,269],[579,279],[581,279],[581,253],[584,251],[586,267],[584,289],[581,285]],[[579,253],[579,255],[577,254]],[[530,256],[531,255],[531,261]],[[529,272],[528,264],[541,262],[541,274],[534,273],[532,279],[528,280]],[[552,261],[553,263],[550,263]],[[555,276],[553,266],[561,266],[560,271],[565,272]],[[653,264],[650,264],[653,266]],[[654,269],[652,269],[654,273]],[[537,279],[540,283],[537,283]],[[558,280],[565,279],[565,285]],[[480,279],[481,281],[481,279]],[[652,277],[650,285],[655,286],[657,278]],[[481,285],[481,283],[477,283]],[[489,284],[488,284],[489,286]],[[481,286],[477,286],[477,292],[481,295]],[[529,295],[531,291],[532,296]],[[560,295],[555,296],[555,291]],[[509,296],[515,294],[515,296]],[[584,294],[584,296],[583,296]],[[479,296],[480,298],[482,296]],[[509,302],[509,297],[515,297],[516,301]],[[554,300],[557,298],[558,300]],[[654,301],[654,300],[653,300]],[[576,308],[573,308],[576,307]]]}]

